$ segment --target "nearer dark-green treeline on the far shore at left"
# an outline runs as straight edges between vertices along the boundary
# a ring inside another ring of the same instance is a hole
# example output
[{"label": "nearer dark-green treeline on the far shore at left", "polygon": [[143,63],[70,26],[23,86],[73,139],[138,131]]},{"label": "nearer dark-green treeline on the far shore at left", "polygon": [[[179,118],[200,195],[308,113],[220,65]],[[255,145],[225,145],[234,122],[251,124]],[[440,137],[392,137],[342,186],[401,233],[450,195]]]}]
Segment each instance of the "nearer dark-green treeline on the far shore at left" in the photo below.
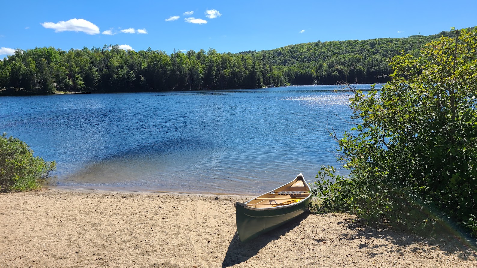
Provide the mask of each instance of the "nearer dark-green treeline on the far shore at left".
[{"label": "nearer dark-green treeline on the far shore at left", "polygon": [[17,50],[0,62],[0,88],[15,94],[257,88],[280,83],[275,69],[258,56],[213,49],[168,55],[117,45],[70,51],[49,47]]}]

